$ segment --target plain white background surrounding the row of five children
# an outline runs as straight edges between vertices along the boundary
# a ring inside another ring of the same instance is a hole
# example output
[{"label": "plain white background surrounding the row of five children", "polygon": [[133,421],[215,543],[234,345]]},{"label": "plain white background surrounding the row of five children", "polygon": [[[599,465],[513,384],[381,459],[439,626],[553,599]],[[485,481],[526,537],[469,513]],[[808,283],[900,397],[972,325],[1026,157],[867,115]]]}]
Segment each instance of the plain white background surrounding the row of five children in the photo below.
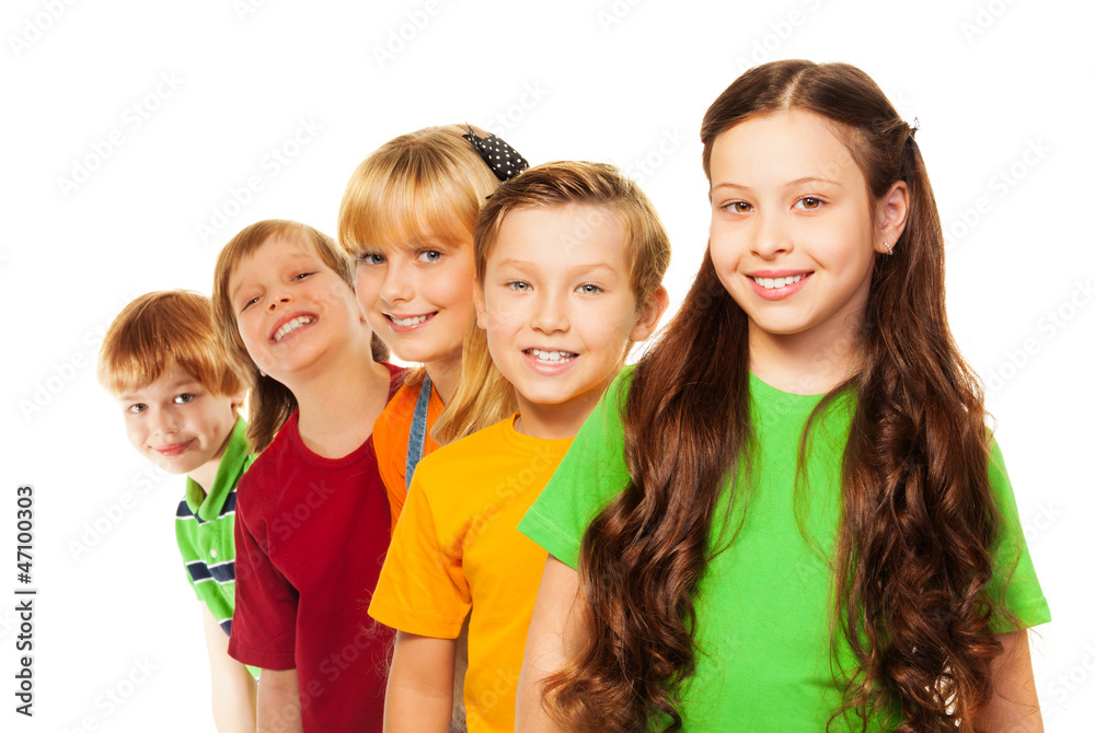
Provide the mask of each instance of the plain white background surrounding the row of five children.
[{"label": "plain white background surrounding the row of five children", "polygon": [[[1035,641],[1047,725],[1091,730],[1090,3],[4,3],[0,729],[212,729],[172,532],[182,479],[148,469],[95,382],[123,305],[208,293],[250,222],[333,234],[366,154],[464,120],[533,163],[631,171],[672,235],[677,303],[706,238],[703,112],[744,68],[802,57],[860,66],[920,118],[950,325],[989,383],[1056,619]],[[320,129],[295,148],[301,120]],[[238,205],[252,176],[262,189]],[[13,711],[21,482],[36,501],[33,720]]]}]

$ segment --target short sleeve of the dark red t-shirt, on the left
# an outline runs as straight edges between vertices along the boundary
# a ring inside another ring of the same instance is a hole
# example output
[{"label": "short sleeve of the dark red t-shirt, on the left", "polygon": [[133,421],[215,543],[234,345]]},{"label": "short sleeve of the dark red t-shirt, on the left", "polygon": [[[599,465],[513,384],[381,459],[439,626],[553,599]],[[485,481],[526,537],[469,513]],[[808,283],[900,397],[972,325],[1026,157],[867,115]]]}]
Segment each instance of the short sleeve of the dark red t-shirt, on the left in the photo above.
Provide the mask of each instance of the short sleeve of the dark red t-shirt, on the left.
[{"label": "short sleeve of the dark red t-shirt, on the left", "polygon": [[235,612],[228,653],[264,670],[292,670],[300,595],[264,551],[241,496],[237,493]]}]

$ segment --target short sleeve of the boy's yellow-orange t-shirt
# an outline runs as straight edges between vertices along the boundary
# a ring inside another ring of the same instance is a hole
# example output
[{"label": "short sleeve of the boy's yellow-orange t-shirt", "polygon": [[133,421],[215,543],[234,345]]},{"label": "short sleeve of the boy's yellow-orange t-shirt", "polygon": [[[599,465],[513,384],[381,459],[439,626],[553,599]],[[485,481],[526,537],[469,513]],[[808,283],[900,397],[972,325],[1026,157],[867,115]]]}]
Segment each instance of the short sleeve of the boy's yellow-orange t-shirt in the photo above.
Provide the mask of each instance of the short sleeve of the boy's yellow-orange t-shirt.
[{"label": "short sleeve of the boy's yellow-orange t-shirt", "polygon": [[461,560],[459,535],[439,537],[428,492],[415,472],[369,615],[400,631],[456,639],[472,605]]}]

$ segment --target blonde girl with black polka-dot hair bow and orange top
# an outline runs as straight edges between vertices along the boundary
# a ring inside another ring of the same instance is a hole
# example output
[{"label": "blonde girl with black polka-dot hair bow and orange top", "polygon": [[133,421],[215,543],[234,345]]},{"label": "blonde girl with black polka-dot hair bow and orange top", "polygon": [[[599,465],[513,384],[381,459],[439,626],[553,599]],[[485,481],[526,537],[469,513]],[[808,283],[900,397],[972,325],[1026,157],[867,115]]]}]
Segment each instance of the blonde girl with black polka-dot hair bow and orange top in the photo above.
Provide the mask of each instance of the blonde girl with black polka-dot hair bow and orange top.
[{"label": "blonde girl with black polka-dot hair bow and orange top", "polygon": [[346,185],[338,242],[357,263],[361,311],[396,357],[422,364],[373,426],[393,527],[424,455],[516,409],[508,392],[487,389],[459,415],[442,411],[460,381],[464,337],[474,334],[480,206],[527,166],[495,136],[447,125],[384,143]]}]

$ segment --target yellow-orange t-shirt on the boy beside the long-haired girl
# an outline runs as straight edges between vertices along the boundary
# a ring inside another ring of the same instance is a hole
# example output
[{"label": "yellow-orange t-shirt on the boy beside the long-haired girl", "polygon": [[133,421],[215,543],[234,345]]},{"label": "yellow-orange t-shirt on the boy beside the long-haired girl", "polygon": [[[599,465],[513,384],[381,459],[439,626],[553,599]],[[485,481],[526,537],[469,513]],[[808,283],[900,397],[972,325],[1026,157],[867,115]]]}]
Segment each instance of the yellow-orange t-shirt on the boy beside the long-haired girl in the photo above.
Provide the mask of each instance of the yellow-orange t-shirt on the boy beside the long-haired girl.
[{"label": "yellow-orange t-shirt on the boy beside the long-haired girl", "polygon": [[456,639],[471,610],[468,731],[512,731],[517,676],[548,552],[517,531],[573,439],[522,435],[514,418],[427,456],[369,606],[410,633]]}]

